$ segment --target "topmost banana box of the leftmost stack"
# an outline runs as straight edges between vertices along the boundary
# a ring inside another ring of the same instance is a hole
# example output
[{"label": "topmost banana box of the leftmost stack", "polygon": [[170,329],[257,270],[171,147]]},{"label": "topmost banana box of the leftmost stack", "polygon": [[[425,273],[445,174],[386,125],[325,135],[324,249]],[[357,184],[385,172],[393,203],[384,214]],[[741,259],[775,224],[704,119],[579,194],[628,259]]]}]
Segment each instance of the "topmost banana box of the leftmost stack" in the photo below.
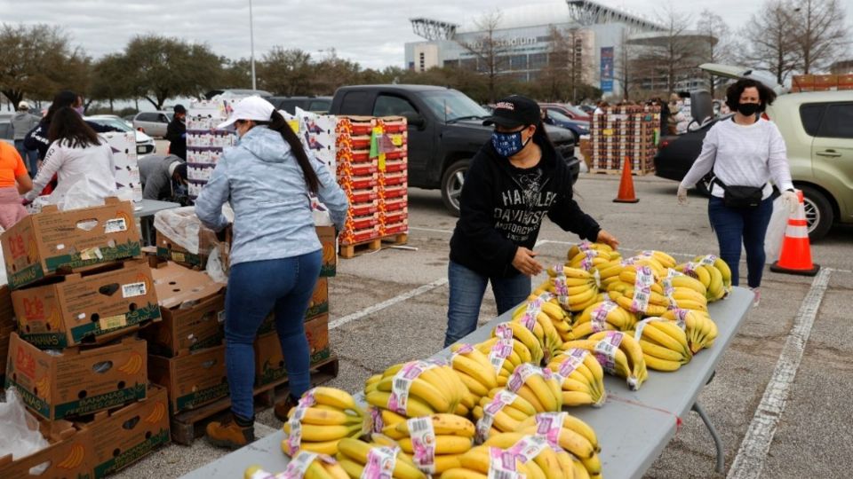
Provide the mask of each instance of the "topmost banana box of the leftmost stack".
[{"label": "topmost banana box of the leftmost stack", "polygon": [[128,201],[60,212],[56,206],[27,216],[3,233],[9,287],[17,289],[60,269],[141,256],[140,233]]}]

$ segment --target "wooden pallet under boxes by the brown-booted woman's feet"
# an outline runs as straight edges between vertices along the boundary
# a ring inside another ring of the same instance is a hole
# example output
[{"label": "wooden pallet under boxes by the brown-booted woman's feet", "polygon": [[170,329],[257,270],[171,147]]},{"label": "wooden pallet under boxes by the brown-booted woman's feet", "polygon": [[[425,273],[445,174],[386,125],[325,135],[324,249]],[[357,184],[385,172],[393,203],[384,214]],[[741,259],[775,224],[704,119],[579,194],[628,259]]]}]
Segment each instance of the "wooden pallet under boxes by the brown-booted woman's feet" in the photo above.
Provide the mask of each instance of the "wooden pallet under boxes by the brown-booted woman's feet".
[{"label": "wooden pallet under boxes by the brown-booted woman's feet", "polygon": [[[338,356],[331,355],[311,365],[311,386],[318,386],[338,377]],[[255,412],[263,411],[283,400],[290,389],[287,378],[255,389]],[[230,413],[231,400],[227,397],[204,404],[191,411],[179,412],[171,417],[171,440],[178,444],[193,444],[196,437],[204,436],[204,428],[211,420],[222,420]]]}]

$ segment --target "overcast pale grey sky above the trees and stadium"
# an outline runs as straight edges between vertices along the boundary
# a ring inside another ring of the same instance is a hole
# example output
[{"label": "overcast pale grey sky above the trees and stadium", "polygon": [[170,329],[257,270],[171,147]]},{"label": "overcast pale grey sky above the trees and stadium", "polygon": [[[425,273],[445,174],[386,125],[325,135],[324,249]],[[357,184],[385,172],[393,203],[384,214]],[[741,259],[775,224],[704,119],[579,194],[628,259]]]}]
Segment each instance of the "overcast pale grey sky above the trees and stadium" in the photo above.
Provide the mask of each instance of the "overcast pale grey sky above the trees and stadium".
[{"label": "overcast pale grey sky above the trees and stadium", "polygon": [[[666,7],[656,0],[598,0],[653,18]],[[403,43],[417,41],[409,19],[466,23],[495,9],[554,0],[253,0],[255,53],[274,45],[315,56],[334,48],[363,67],[403,67]],[[841,4],[853,3],[842,0]],[[679,2],[694,21],[712,8],[733,29],[745,25],[761,0]],[[695,5],[687,6],[685,4]],[[65,27],[94,58],[121,51],[133,35],[154,33],[208,43],[230,58],[250,51],[249,0],[0,0],[0,21]],[[853,13],[853,12],[850,12]]]}]

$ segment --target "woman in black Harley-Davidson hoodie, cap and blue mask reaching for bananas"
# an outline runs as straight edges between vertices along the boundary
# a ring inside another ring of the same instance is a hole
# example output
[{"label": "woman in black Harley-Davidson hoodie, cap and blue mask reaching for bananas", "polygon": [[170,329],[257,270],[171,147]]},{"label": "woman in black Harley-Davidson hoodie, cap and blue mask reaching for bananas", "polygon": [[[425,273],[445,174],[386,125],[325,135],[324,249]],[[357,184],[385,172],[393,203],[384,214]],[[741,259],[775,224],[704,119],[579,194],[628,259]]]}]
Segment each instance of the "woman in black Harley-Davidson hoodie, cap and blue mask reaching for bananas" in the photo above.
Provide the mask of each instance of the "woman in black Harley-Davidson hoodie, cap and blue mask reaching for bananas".
[{"label": "woman in black Harley-Davidson hoodie, cap and blue mask reaching for bananas", "polygon": [[445,347],[476,329],[489,282],[498,314],[530,295],[530,277],[542,271],[532,248],[543,216],[585,240],[618,247],[572,200],[570,169],[547,137],[535,101],[505,98],[483,124],[495,131],[471,161],[450,239]]}]

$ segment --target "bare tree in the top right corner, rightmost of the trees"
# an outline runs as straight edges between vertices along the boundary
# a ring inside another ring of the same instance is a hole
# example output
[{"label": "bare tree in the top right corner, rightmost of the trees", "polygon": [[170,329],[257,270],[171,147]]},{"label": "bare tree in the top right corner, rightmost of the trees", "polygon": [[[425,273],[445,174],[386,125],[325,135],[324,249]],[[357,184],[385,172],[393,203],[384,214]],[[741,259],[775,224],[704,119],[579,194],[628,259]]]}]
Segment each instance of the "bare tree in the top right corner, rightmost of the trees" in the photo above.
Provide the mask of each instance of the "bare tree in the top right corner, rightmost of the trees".
[{"label": "bare tree in the top right corner, rightmost of the trees", "polygon": [[803,74],[827,67],[846,50],[849,32],[838,0],[801,0],[787,7],[793,18],[797,67]]}]

